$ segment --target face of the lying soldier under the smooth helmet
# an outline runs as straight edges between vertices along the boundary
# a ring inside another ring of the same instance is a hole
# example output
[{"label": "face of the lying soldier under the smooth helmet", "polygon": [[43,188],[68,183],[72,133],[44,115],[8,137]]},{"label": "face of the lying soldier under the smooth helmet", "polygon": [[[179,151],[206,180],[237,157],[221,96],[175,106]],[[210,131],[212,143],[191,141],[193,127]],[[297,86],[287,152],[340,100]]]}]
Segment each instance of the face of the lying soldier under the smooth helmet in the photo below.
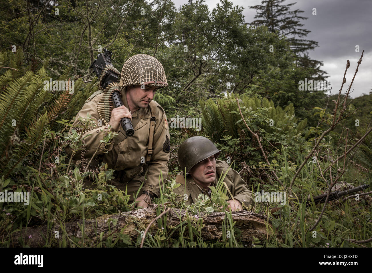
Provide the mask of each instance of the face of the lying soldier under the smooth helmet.
[{"label": "face of the lying soldier under the smooth helmet", "polygon": [[196,183],[208,189],[208,186],[216,179],[216,159],[214,155],[193,166],[189,174]]}]

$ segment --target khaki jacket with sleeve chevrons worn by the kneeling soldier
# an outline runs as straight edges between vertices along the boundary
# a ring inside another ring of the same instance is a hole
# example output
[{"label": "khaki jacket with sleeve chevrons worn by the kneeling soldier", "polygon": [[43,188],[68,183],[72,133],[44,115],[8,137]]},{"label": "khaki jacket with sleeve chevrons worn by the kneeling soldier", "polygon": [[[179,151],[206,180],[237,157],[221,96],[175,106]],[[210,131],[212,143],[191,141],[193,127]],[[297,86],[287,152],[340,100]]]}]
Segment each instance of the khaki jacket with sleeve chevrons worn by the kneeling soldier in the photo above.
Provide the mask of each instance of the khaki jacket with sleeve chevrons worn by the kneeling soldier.
[{"label": "khaki jacket with sleeve chevrons worn by the kneeling soldier", "polygon": [[[126,100],[126,88],[121,88],[121,98],[125,107],[128,107]],[[103,133],[100,129],[104,129],[106,124],[98,126],[98,120],[100,119],[97,104],[102,98],[103,93],[92,95],[84,104],[83,108],[79,111],[76,116],[73,125],[79,123],[78,117],[86,117],[87,113],[96,120],[96,127],[93,130],[83,132],[86,144],[87,152],[84,154],[85,158],[91,158],[96,152],[100,145],[100,140],[103,140]],[[169,141],[169,128],[167,123],[167,117],[164,109],[154,100],[150,104],[156,105],[156,116],[155,116],[155,129],[153,138],[153,154],[151,155],[151,161],[148,164],[147,180],[145,182],[143,190],[152,192],[156,196],[160,195],[159,188],[159,175],[162,173],[163,181],[165,181],[168,174],[168,162],[170,152],[170,141]],[[124,170],[126,178],[134,178],[144,170],[144,163],[147,156],[148,140],[150,133],[150,117],[151,110],[150,105],[147,108],[140,108],[132,113],[132,125],[134,129],[134,136],[127,137],[124,130],[120,125],[119,135],[115,137],[115,142],[108,144],[101,144],[101,147],[96,153],[95,159],[98,162],[108,164],[109,169]],[[73,127],[71,127],[71,130]],[[88,136],[89,135],[89,136]],[[69,147],[66,147],[66,152],[71,155],[72,151]],[[105,153],[107,152],[107,153]],[[77,152],[74,160],[81,159],[81,151]],[[163,185],[161,181],[161,185]]]}]

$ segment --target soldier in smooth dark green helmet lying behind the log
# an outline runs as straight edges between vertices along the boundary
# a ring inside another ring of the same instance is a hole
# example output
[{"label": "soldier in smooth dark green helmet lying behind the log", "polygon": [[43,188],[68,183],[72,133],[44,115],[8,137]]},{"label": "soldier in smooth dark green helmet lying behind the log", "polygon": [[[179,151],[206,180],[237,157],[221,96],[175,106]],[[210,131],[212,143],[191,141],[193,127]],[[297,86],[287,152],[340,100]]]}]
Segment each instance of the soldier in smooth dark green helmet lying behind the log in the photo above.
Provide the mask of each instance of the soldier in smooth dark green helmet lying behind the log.
[{"label": "soldier in smooth dark green helmet lying behind the log", "polygon": [[[176,182],[181,185],[173,192],[177,194],[176,201],[185,200],[186,204],[193,204],[199,194],[211,196],[210,186],[216,186],[220,177],[225,175],[225,182],[230,196],[227,210],[241,210],[242,204],[251,204],[253,194],[248,190],[247,183],[239,173],[222,161],[217,160],[221,150],[202,136],[186,139],[178,149],[178,163],[181,172],[176,176]],[[222,179],[221,178],[221,179]]]}]

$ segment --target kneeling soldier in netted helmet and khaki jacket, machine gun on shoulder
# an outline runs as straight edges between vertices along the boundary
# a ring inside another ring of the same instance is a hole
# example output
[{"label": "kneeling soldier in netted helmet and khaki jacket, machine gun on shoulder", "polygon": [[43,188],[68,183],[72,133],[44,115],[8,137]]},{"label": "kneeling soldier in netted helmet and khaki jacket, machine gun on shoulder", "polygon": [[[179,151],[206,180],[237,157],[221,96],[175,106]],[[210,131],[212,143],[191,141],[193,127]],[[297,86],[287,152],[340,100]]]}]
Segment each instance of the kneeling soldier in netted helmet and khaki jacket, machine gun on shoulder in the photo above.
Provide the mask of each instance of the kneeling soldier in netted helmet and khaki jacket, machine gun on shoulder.
[{"label": "kneeling soldier in netted helmet and khaki jacket, machine gun on shoulder", "polygon": [[[88,112],[92,118],[102,121],[102,126],[97,123],[93,130],[83,132],[90,134],[84,139],[87,150],[84,157],[87,158],[93,156],[100,140],[103,140],[100,129],[118,132],[114,142],[97,151],[94,161],[98,166],[103,162],[114,169],[112,185],[127,189],[130,201],[136,201],[138,207],[147,207],[152,198],[160,196],[160,185],[168,174],[170,140],[167,117],[164,109],[153,100],[155,92],[168,86],[168,82],[164,68],[156,58],[137,54],[125,62],[119,84],[114,85],[109,84],[105,90],[92,94],[77,114],[74,125]],[[120,91],[124,105],[113,108],[110,103],[113,90]],[[126,136],[122,130],[120,121],[124,117],[131,119],[133,136]],[[79,152],[74,159],[80,159]]]}]

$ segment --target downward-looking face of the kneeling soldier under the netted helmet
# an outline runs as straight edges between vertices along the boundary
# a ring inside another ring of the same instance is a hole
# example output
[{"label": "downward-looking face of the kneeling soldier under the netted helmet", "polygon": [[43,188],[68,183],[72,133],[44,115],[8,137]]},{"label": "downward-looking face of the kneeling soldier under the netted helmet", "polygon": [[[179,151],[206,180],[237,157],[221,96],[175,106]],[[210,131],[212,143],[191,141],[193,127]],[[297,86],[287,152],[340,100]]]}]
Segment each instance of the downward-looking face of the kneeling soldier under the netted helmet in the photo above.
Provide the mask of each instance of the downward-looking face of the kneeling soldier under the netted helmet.
[{"label": "downward-looking face of the kneeling soldier under the netted helmet", "polygon": [[145,89],[142,89],[141,85],[128,87],[126,91],[128,104],[134,105],[134,111],[138,108],[146,108],[153,100],[157,89],[158,87],[149,85],[145,85]]}]

